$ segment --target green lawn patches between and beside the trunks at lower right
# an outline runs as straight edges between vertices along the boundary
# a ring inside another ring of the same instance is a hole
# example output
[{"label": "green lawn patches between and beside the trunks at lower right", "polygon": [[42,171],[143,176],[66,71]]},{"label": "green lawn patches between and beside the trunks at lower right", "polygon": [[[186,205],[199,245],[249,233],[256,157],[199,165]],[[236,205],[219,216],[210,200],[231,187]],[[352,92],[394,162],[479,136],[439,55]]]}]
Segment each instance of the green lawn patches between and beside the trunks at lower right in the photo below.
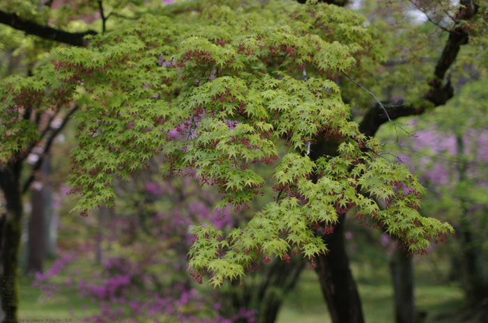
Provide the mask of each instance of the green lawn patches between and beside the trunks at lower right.
[{"label": "green lawn patches between and beside the trunks at lower right", "polygon": [[[386,268],[360,268],[353,264],[353,274],[358,278],[358,289],[363,302],[365,321],[370,323],[393,323],[394,301],[393,288]],[[463,305],[463,291],[453,285],[439,285],[430,280],[431,272],[423,264],[415,266],[417,285],[415,296],[418,310],[427,313],[427,322],[461,322],[454,317],[438,316],[457,310]],[[423,277],[423,278],[422,278]],[[306,269],[300,281],[296,285],[295,292],[285,299],[278,315],[277,323],[330,323],[327,306],[323,301],[323,295],[319,280],[315,271]]]}]

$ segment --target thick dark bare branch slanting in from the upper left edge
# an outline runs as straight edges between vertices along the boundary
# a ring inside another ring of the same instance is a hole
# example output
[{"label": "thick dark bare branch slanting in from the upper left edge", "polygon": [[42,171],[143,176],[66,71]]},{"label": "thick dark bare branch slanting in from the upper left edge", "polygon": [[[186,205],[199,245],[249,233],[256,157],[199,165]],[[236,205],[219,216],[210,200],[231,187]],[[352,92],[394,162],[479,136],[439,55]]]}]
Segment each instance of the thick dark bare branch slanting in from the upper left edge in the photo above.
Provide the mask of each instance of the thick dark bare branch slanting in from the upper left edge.
[{"label": "thick dark bare branch slanting in from the upper left edge", "polygon": [[84,33],[68,33],[67,31],[62,31],[49,26],[43,26],[36,22],[22,19],[22,17],[15,15],[15,13],[7,13],[3,10],[0,10],[0,23],[6,24],[20,31],[25,31],[30,35],[79,47],[87,47],[89,44],[89,41],[84,39],[84,36],[95,36],[97,34],[96,31],[92,30],[85,31]]}]

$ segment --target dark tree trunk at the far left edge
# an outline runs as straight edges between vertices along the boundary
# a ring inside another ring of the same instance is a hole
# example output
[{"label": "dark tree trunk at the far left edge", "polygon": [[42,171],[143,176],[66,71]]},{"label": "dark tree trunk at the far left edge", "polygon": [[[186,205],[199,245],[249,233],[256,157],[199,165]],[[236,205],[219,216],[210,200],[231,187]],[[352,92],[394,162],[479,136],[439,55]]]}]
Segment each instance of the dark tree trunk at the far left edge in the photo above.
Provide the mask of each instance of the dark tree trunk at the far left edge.
[{"label": "dark tree trunk at the far left edge", "polygon": [[0,166],[0,187],[6,199],[6,214],[0,220],[1,322],[16,322],[19,306],[17,267],[22,235],[21,170],[22,161]]}]

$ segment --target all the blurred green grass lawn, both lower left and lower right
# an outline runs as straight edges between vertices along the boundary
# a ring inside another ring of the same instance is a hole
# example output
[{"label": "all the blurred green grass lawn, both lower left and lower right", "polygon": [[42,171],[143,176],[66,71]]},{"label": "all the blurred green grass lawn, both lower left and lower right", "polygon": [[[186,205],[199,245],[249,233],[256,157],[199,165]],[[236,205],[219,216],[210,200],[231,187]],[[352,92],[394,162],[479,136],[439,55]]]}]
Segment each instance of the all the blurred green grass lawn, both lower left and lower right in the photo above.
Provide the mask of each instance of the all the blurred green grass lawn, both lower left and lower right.
[{"label": "all the blurred green grass lawn, both lower left and lower right", "polygon": [[[46,268],[49,268],[48,262]],[[78,275],[90,277],[95,268],[93,264],[77,262],[75,267]],[[447,315],[443,320],[434,320],[441,313],[455,310],[462,306],[463,292],[453,285],[439,285],[429,278],[428,266],[416,265],[417,288],[416,297],[418,310],[427,313],[427,322],[460,322],[455,317]],[[370,269],[370,268],[369,268]],[[358,279],[358,288],[363,301],[363,311],[366,322],[393,323],[392,286],[388,268],[369,270],[367,266],[359,267],[353,264],[353,273]],[[63,270],[54,278],[56,283],[63,283],[70,278],[68,271]],[[87,298],[80,298],[73,287],[68,288],[60,284],[59,291],[54,296],[47,297],[46,292],[28,290],[33,278],[21,276],[20,287],[22,297],[20,301],[20,319],[41,319],[43,322],[82,322],[82,317],[97,312],[95,304]],[[87,306],[88,308],[82,308]],[[54,321],[49,321],[54,320]],[[330,317],[315,271],[303,271],[296,290],[289,294],[278,315],[277,323],[328,323]]]}]

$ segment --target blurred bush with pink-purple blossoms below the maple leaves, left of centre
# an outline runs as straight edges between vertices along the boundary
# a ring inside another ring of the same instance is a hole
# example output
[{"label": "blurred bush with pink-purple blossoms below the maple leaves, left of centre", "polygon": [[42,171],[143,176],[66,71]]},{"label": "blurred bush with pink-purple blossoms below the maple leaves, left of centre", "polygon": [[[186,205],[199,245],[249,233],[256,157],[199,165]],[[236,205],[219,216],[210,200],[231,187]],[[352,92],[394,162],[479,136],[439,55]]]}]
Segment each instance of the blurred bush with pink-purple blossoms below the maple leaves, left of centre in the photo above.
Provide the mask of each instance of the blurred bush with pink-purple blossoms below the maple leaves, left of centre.
[{"label": "blurred bush with pink-purple blossoms below the maple leaves, left of centre", "polygon": [[[190,178],[165,183],[146,179],[139,187],[142,189],[135,196],[143,198],[144,204],[130,207],[134,201],[128,196],[135,192],[128,191],[126,196],[121,192],[123,214],[102,215],[103,228],[99,229],[110,244],[103,251],[102,266],[96,267],[89,278],[75,274],[65,281],[64,287],[76,289],[80,297],[90,299],[99,309],[84,321],[166,322],[171,318],[174,322],[254,322],[256,310],[239,308],[231,317],[220,315],[217,294],[196,290],[186,269],[192,226],[211,223],[217,228],[231,227],[231,210],[212,210],[213,194],[201,191]],[[121,241],[127,233],[137,239]],[[49,270],[36,273],[32,285],[48,286],[52,296],[61,287],[49,283],[52,278],[69,271],[68,267],[78,260],[93,262],[89,260],[93,253],[96,250],[89,244],[77,253],[61,251]],[[80,306],[88,308],[86,304]]]}]

